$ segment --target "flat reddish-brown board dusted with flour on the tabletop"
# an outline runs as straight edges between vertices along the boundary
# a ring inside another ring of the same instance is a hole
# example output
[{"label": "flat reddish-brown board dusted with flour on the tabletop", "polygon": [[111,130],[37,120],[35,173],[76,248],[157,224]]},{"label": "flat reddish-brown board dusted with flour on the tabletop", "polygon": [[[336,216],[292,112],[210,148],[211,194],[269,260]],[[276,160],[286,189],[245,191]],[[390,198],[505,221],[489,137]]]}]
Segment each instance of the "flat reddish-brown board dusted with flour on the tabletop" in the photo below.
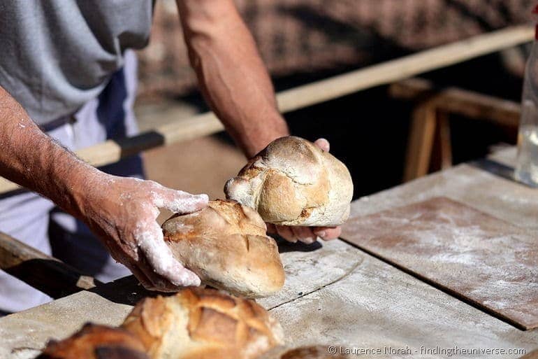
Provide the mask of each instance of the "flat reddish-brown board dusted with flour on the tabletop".
[{"label": "flat reddish-brown board dusted with flour on the tabletop", "polygon": [[538,240],[446,197],[356,217],[342,238],[525,330],[538,328]]}]

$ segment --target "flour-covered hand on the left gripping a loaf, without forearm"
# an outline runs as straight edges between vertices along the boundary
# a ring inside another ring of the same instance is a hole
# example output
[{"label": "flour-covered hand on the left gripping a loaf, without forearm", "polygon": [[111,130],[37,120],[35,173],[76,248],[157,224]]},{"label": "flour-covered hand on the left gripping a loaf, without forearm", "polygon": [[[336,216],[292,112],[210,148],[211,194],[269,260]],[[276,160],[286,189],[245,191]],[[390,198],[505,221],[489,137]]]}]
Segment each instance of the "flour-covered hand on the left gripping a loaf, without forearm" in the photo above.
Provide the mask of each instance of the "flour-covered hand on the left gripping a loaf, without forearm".
[{"label": "flour-covered hand on the left gripping a loaf, without forearm", "polygon": [[199,286],[196,274],[173,257],[156,219],[159,208],[192,213],[207,195],[171,190],[153,181],[99,174],[82,198],[82,220],[98,234],[112,258],[126,265],[149,290]]}]

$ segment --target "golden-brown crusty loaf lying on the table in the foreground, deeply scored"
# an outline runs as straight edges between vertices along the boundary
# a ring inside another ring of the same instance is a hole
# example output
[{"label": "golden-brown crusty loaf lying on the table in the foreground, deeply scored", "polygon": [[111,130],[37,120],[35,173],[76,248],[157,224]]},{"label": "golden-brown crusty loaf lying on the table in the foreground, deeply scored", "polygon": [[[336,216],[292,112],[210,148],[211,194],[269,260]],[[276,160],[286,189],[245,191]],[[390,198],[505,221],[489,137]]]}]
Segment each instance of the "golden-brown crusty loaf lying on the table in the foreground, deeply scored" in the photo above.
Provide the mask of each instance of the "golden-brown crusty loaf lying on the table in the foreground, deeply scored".
[{"label": "golden-brown crusty loaf lying on the table in the foreground, deeply scored", "polygon": [[250,359],[283,341],[279,323],[254,301],[203,288],[145,298],[122,328],[151,359]]}]

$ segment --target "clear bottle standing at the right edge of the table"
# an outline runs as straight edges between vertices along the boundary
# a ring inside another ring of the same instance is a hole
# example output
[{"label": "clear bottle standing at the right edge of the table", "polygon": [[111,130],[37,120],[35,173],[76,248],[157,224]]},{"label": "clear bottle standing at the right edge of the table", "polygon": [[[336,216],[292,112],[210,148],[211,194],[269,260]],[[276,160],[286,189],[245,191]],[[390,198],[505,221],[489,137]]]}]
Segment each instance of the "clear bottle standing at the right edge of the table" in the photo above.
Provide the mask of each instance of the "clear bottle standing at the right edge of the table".
[{"label": "clear bottle standing at the right edge of the table", "polygon": [[[538,6],[533,13],[538,15]],[[537,26],[538,38],[538,26]],[[525,68],[521,119],[518,132],[518,158],[514,177],[538,187],[538,41],[532,44]]]}]

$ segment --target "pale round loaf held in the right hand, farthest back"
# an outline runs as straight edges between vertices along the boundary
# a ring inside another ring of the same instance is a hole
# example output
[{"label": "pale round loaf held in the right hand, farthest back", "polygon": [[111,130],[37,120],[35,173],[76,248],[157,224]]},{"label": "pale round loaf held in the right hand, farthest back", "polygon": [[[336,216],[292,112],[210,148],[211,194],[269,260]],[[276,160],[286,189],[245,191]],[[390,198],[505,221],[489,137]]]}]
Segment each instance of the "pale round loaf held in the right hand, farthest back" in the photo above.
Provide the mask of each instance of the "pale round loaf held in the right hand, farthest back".
[{"label": "pale round loaf held in the right hand, farthest back", "polygon": [[224,192],[268,223],[334,226],[349,216],[353,182],[333,155],[288,136],[269,143],[226,182]]}]

